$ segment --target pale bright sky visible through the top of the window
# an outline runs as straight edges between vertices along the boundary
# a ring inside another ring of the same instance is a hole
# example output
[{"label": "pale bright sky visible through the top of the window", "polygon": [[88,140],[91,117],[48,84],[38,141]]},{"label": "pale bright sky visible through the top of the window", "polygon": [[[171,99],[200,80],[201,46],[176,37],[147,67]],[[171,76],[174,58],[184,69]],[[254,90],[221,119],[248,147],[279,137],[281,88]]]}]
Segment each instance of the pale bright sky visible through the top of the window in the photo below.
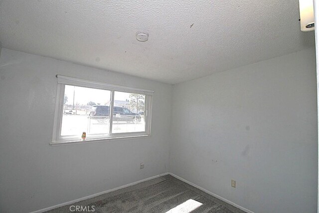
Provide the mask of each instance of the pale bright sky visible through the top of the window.
[{"label": "pale bright sky visible through the top of the window", "polygon": [[[126,99],[130,100],[130,94],[127,92],[115,92],[114,97],[115,100],[125,101]],[[67,104],[73,104],[73,95],[74,104],[78,103],[80,105],[86,105],[90,101],[104,105],[111,100],[110,90],[65,85],[64,96],[68,97]]]}]

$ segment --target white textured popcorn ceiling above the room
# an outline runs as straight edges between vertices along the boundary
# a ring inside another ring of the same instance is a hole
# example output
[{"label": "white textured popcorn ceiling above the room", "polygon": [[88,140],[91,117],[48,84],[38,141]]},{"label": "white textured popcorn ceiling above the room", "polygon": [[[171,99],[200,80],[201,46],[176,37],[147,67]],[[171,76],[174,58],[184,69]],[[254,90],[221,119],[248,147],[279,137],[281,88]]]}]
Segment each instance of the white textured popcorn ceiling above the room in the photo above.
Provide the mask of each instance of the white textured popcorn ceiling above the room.
[{"label": "white textured popcorn ceiling above the room", "polygon": [[0,0],[0,42],[174,84],[314,46],[298,19],[298,0]]}]

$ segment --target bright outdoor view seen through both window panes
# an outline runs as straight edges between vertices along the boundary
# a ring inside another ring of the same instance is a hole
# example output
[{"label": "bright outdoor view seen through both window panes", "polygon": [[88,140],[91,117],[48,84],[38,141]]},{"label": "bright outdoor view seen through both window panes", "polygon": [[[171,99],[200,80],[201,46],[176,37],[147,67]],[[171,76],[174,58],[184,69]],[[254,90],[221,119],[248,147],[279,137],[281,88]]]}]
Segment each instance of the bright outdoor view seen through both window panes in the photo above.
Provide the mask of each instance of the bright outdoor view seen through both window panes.
[{"label": "bright outdoor view seen through both window panes", "polygon": [[[138,93],[64,85],[58,138],[79,138],[83,132],[88,138],[145,133],[147,97]],[[110,112],[112,106],[113,113]]]}]

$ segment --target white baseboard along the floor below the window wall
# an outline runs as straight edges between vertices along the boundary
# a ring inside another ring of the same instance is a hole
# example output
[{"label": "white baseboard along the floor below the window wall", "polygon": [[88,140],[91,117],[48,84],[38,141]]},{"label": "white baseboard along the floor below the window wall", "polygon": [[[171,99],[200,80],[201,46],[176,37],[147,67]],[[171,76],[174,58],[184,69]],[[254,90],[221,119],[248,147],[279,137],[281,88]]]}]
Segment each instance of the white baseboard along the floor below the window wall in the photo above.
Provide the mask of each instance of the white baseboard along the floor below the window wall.
[{"label": "white baseboard along the floor below the window wall", "polygon": [[49,210],[53,210],[53,209],[56,209],[56,208],[59,208],[59,207],[63,207],[63,206],[66,206],[66,205],[70,205],[70,204],[74,204],[74,203],[77,203],[77,202],[80,202],[80,201],[84,201],[86,199],[94,198],[96,196],[100,196],[100,195],[103,195],[103,194],[106,194],[106,193],[109,193],[109,192],[114,192],[116,190],[120,190],[120,189],[123,189],[123,188],[126,188],[126,187],[130,187],[130,186],[133,186],[133,185],[145,182],[145,181],[149,181],[149,180],[152,180],[152,179],[155,179],[155,178],[159,178],[159,177],[164,176],[164,175],[169,175],[169,173],[167,172],[167,173],[163,173],[163,174],[160,174],[160,175],[156,175],[156,176],[153,176],[153,177],[150,177],[150,178],[143,179],[141,181],[137,181],[137,182],[134,182],[134,183],[131,183],[131,184],[126,184],[126,185],[123,185],[123,186],[120,186],[120,187],[117,187],[117,188],[114,188],[114,189],[111,189],[111,190],[106,190],[106,191],[103,191],[103,192],[99,192],[99,193],[96,193],[96,194],[93,194],[93,195],[89,195],[89,196],[86,196],[86,197],[83,197],[83,198],[79,198],[79,199],[76,199],[76,200],[73,200],[73,201],[68,201],[68,202],[65,202],[63,204],[58,204],[58,205],[55,205],[55,206],[52,206],[52,207],[47,207],[47,208],[44,208],[44,209],[41,209],[41,210],[37,210],[37,211],[31,212],[31,213],[43,213],[43,212],[46,212],[46,211],[49,211]]}]

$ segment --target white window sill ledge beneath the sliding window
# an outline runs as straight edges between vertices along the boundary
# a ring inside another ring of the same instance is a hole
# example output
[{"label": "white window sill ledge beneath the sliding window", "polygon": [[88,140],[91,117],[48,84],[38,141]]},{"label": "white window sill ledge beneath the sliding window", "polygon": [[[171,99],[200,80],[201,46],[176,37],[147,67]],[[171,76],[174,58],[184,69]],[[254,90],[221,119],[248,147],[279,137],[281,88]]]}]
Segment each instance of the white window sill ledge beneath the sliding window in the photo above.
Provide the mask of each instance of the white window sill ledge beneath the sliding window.
[{"label": "white window sill ledge beneath the sliding window", "polygon": [[128,139],[137,139],[137,138],[148,138],[151,135],[139,135],[139,136],[121,136],[117,138],[101,138],[101,139],[91,139],[91,140],[76,140],[76,141],[62,141],[62,142],[50,142],[51,146],[66,146],[66,145],[75,145],[75,144],[91,144],[107,141],[117,141],[117,140],[128,140]]}]

